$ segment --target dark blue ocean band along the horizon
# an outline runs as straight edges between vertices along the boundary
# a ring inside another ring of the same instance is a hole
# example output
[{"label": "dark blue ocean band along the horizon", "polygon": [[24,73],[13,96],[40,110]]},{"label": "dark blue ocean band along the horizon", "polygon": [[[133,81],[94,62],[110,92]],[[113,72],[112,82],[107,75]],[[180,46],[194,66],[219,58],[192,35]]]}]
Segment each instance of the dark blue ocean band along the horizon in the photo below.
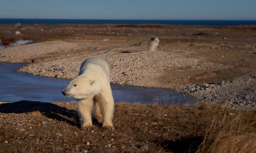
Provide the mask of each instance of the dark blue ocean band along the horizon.
[{"label": "dark blue ocean band along the horizon", "polygon": [[0,18],[0,24],[168,24],[168,25],[256,25],[256,20],[87,20],[87,19],[20,19]]}]

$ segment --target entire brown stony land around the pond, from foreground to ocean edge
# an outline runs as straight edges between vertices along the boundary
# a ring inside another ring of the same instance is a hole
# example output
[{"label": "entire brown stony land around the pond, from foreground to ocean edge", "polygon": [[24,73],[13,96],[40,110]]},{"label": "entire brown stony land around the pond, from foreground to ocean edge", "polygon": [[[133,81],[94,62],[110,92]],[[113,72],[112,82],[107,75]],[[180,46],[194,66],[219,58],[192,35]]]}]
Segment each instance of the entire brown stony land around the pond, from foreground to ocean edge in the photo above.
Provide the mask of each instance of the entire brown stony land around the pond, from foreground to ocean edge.
[{"label": "entire brown stony land around the pond, from foreground to ocean edge", "polygon": [[[73,78],[96,56],[109,63],[113,84],[175,89],[203,103],[117,103],[113,132],[96,122],[81,131],[74,102],[3,103],[0,152],[256,150],[256,26],[0,25],[0,37],[38,41],[0,49],[0,62],[28,62],[18,71]],[[139,43],[151,37],[160,43],[148,52]]]}]

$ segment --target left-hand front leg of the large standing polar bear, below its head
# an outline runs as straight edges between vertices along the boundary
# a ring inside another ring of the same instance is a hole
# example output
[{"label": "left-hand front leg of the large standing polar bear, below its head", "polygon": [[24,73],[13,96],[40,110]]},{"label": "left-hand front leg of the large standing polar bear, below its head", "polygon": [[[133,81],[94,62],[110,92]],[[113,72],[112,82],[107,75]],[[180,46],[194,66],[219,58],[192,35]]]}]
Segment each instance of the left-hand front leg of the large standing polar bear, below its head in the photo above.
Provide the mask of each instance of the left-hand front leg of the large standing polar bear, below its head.
[{"label": "left-hand front leg of the large standing polar bear, below its head", "polygon": [[92,128],[92,98],[77,99],[76,106],[81,124],[81,129],[90,130]]}]

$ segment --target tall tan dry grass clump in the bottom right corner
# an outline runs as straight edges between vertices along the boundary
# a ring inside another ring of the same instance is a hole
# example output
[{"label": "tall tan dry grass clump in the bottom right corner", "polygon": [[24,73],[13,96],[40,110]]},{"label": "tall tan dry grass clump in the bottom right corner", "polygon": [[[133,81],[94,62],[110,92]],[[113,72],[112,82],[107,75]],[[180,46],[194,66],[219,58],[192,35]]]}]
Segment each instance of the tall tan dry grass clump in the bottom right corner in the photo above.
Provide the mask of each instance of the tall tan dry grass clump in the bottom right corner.
[{"label": "tall tan dry grass clump in the bottom right corner", "polygon": [[256,152],[256,111],[223,108],[213,116],[198,152]]}]

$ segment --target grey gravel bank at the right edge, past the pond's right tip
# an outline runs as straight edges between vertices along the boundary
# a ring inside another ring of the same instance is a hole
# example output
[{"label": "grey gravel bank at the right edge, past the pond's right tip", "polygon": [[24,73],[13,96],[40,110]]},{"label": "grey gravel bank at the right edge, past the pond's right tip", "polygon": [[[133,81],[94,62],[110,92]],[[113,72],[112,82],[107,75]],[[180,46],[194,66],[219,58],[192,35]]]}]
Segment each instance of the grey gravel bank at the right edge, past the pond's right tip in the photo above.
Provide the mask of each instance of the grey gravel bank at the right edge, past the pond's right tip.
[{"label": "grey gravel bank at the right edge, past the pond's right tip", "polygon": [[179,92],[187,93],[204,103],[222,103],[236,109],[256,110],[255,73],[220,83],[187,85]]}]

